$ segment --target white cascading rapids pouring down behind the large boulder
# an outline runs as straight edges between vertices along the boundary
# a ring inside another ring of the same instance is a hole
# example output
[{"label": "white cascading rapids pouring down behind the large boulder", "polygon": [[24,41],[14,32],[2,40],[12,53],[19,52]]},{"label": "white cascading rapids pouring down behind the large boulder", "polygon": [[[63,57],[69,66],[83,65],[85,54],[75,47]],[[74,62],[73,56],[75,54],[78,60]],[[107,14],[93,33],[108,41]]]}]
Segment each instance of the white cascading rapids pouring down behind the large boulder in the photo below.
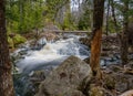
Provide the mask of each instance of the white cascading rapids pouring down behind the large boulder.
[{"label": "white cascading rapids pouring down behind the large boulder", "polygon": [[45,43],[45,45],[41,50],[28,50],[24,58],[17,62],[19,71],[29,73],[40,68],[54,67],[70,55],[79,56],[82,60],[88,57],[90,55],[89,49],[79,42],[79,38],[73,35],[57,42],[39,40],[41,44]]}]

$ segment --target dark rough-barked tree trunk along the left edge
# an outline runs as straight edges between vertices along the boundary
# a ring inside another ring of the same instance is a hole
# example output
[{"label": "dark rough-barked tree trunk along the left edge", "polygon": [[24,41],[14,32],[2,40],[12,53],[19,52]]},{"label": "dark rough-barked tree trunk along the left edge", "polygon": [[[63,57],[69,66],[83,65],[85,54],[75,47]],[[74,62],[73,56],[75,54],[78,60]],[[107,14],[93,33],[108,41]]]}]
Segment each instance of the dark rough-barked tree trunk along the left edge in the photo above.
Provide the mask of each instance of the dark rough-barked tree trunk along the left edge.
[{"label": "dark rough-barked tree trunk along the left edge", "polygon": [[0,0],[0,96],[14,96],[6,32],[4,1]]}]

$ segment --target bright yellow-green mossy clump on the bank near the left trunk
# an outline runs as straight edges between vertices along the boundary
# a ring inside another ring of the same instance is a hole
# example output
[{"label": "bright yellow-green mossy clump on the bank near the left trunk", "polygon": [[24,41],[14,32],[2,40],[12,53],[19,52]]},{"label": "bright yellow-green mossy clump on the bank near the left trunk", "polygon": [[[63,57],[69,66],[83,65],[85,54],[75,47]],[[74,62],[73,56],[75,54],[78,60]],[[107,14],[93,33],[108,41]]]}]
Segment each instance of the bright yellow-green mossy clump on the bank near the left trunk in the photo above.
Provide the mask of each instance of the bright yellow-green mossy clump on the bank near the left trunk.
[{"label": "bright yellow-green mossy clump on the bank near the left trunk", "polygon": [[20,34],[16,34],[16,36],[13,36],[14,46],[17,46],[21,43],[24,43],[25,41],[27,41],[27,39],[21,36]]}]

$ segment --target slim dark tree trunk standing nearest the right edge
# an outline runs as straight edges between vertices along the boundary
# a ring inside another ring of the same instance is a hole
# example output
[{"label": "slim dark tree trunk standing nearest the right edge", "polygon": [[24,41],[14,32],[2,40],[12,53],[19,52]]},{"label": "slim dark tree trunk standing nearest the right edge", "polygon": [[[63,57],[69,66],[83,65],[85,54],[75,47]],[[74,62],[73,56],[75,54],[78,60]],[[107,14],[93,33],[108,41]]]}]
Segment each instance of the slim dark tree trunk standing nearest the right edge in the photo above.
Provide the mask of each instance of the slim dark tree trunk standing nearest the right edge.
[{"label": "slim dark tree trunk standing nearest the right edge", "polygon": [[127,29],[129,29],[129,0],[124,1],[123,10],[123,32],[122,32],[122,43],[121,43],[121,60],[122,64],[127,64]]}]

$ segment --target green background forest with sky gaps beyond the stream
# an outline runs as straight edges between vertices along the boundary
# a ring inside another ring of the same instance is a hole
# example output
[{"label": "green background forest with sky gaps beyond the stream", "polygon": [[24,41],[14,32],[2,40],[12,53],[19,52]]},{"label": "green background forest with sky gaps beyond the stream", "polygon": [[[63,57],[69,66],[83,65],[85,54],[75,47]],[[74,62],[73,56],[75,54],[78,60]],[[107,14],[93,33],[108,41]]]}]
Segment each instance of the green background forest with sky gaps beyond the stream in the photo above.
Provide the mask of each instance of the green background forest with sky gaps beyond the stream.
[{"label": "green background forest with sky gaps beyond the stream", "polygon": [[[109,32],[120,31],[122,26],[122,1],[105,0],[106,10],[110,10],[106,17],[112,14],[106,18]],[[129,1],[131,4],[132,0]],[[23,33],[42,28],[48,22],[53,22],[62,29],[91,30],[93,26],[92,2],[93,0],[7,0],[7,30]],[[133,21],[132,18],[130,17],[130,20]]]}]

